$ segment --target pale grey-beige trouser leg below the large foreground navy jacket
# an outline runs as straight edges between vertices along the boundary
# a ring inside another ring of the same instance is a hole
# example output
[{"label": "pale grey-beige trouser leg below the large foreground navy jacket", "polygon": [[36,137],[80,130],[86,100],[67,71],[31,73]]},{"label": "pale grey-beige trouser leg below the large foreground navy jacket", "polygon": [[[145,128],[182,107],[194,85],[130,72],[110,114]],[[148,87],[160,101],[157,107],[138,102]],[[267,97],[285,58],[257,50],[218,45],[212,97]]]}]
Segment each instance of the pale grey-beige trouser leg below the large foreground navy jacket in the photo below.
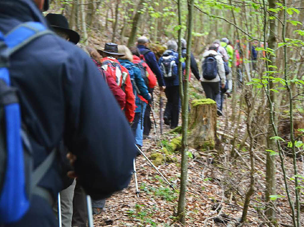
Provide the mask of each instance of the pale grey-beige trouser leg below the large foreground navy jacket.
[{"label": "pale grey-beige trouser leg below the large foreground navy jacket", "polygon": [[[73,183],[68,186],[66,189],[60,192],[60,203],[61,203],[61,223],[62,227],[71,227],[72,225],[72,216],[73,216],[73,197],[74,189],[76,185],[76,180],[74,179]],[[53,210],[57,215],[57,204],[55,203]]]}]

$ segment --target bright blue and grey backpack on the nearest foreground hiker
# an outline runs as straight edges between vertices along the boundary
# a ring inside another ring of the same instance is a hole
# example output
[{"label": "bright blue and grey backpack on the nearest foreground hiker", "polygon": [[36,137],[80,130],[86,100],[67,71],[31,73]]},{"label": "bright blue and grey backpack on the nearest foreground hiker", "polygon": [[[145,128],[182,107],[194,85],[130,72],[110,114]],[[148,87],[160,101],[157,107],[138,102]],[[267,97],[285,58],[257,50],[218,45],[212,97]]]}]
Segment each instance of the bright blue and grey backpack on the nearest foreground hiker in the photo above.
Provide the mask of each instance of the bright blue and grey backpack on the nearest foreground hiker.
[{"label": "bright blue and grey backpack on the nearest foreground hiker", "polygon": [[10,56],[34,39],[53,33],[41,23],[26,22],[7,35],[0,32],[0,225],[16,222],[27,212],[31,195],[51,202],[50,193],[37,184],[56,155],[50,155],[33,170],[33,151],[22,125],[18,91],[11,86]]}]

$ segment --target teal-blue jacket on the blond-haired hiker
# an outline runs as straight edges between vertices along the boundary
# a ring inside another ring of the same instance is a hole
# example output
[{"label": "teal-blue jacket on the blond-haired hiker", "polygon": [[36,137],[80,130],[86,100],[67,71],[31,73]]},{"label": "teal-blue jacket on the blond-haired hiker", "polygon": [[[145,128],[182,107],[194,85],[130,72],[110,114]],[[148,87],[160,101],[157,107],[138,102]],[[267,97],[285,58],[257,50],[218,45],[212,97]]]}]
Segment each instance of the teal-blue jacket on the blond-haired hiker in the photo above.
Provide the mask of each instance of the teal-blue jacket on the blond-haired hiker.
[{"label": "teal-blue jacket on the blond-haired hiker", "polygon": [[[145,84],[145,81],[143,80],[142,76],[141,76],[141,71],[139,68],[137,68],[132,62],[130,62],[129,60],[122,60],[122,59],[118,59],[119,63],[126,67],[129,71],[130,74],[130,79],[131,82],[132,80],[135,82],[141,96],[143,96],[144,99],[146,99],[147,101],[149,101],[150,95],[148,94],[148,88]],[[132,83],[133,86],[133,83]],[[135,93],[136,88],[133,86],[133,93]],[[136,98],[135,98],[135,104],[136,104],[136,110],[135,113],[140,113],[141,112],[141,104],[142,101],[140,100],[140,98],[138,97],[138,91],[136,92]]]}]

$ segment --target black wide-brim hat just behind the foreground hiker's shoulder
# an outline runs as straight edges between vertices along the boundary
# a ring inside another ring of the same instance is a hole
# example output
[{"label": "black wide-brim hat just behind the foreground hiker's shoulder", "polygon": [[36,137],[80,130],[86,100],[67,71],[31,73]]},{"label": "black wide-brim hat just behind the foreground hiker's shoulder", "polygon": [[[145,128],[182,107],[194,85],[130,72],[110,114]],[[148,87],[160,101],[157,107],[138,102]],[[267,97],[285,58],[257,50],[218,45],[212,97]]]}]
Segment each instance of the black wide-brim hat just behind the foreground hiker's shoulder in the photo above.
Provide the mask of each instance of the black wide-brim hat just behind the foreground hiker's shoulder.
[{"label": "black wide-brim hat just behind the foreground hiker's shoulder", "polygon": [[67,18],[61,14],[49,13],[45,16],[47,22],[52,28],[58,29],[69,36],[69,41],[77,44],[80,40],[80,36],[77,32],[69,28]]}]

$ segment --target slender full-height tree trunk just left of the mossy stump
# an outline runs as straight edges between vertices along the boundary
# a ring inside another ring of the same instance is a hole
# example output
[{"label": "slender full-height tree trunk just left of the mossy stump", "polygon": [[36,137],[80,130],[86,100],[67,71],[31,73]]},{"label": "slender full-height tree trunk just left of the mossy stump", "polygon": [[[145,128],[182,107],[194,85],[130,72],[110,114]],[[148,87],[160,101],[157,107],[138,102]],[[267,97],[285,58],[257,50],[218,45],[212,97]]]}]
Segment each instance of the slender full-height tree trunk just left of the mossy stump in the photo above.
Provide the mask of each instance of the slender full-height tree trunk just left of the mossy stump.
[{"label": "slender full-height tree trunk just left of the mossy stump", "polygon": [[[186,187],[187,187],[187,170],[188,170],[188,106],[189,106],[189,80],[188,75],[190,72],[190,52],[192,44],[192,26],[193,26],[193,6],[194,0],[188,0],[188,42],[186,53],[186,73],[184,78],[184,101],[182,106],[182,139],[181,139],[181,188],[178,199],[178,219],[181,223],[185,224],[185,207],[186,207]],[[180,56],[179,56],[180,57]],[[180,63],[181,64],[181,63]]]}]

